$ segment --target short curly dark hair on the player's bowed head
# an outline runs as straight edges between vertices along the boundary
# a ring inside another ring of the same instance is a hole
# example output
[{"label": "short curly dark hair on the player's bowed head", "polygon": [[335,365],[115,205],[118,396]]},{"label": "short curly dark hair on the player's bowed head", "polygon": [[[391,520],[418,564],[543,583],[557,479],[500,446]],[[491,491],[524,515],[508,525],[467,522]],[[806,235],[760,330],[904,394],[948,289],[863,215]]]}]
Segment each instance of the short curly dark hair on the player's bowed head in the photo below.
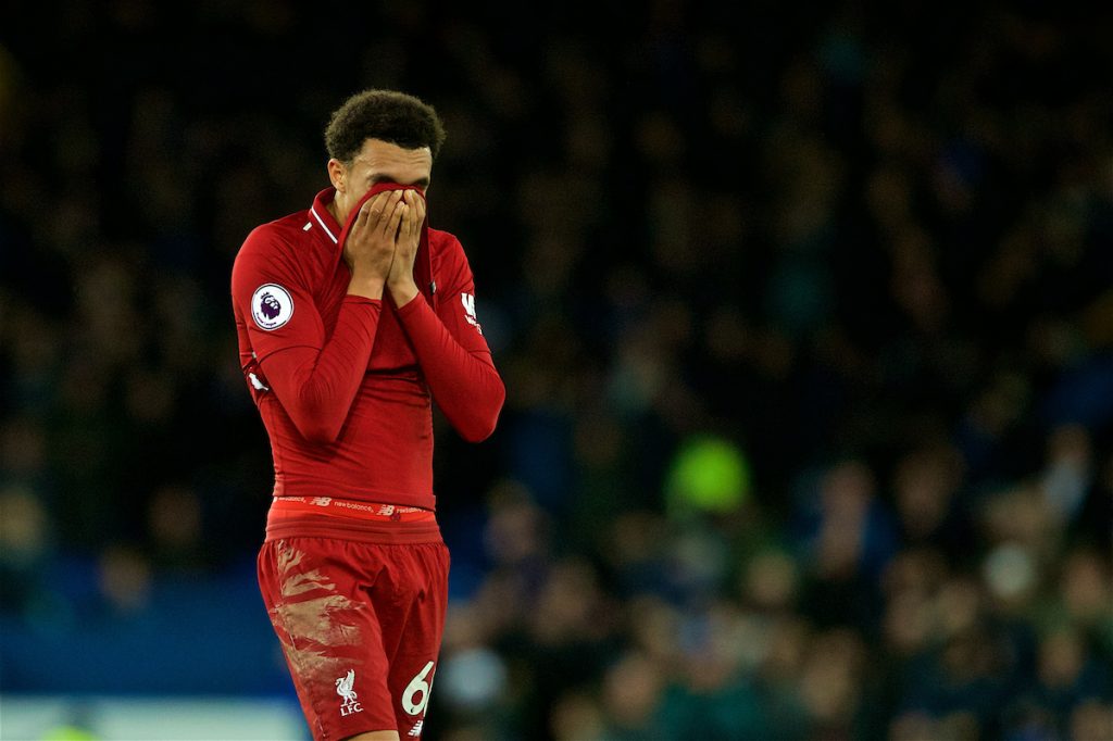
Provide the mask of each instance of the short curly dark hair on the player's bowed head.
[{"label": "short curly dark hair on the player's bowed head", "polygon": [[444,144],[444,126],[436,110],[420,98],[396,90],[364,90],[333,111],[325,147],[329,157],[347,164],[367,139],[405,149],[429,147],[435,160]]}]

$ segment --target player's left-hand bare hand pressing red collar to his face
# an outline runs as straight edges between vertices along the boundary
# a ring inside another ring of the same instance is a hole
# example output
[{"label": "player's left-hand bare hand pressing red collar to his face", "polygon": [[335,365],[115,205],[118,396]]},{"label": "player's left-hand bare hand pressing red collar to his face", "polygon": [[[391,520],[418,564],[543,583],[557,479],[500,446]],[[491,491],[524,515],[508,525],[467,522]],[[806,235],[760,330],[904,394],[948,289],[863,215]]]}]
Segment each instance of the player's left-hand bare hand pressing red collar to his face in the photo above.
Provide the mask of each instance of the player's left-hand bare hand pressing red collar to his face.
[{"label": "player's left-hand bare hand pressing red collar to his face", "polygon": [[349,294],[382,298],[383,285],[395,261],[400,228],[410,208],[403,192],[384,190],[359,208],[344,243],[344,261],[352,271]]}]

